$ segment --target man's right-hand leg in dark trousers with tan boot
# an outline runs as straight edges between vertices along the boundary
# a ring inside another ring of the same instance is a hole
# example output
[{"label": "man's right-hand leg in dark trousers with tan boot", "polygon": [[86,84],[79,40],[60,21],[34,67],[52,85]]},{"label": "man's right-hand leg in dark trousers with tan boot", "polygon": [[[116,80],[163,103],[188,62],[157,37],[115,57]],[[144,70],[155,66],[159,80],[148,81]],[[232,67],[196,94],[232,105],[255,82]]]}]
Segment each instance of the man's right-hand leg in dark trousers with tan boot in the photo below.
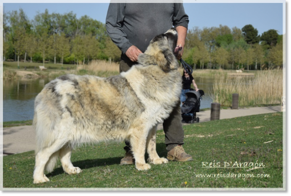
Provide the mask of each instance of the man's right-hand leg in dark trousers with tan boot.
[{"label": "man's right-hand leg in dark trousers with tan boot", "polygon": [[170,161],[193,161],[191,155],[187,154],[182,145],[184,144],[184,130],[182,128],[182,116],[180,101],[173,108],[169,118],[164,120],[165,144],[167,146],[167,159]]}]

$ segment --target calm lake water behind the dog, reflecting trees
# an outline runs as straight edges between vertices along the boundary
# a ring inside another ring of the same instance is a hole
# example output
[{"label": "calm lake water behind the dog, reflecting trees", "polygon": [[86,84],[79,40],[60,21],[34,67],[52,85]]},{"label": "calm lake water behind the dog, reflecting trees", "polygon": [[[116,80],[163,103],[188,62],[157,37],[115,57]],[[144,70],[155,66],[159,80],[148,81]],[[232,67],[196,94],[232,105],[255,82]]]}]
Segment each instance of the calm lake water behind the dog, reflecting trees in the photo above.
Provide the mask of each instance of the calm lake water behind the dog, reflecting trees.
[{"label": "calm lake water behind the dog, reflecting trees", "polygon": [[[210,108],[212,99],[209,91],[212,89],[212,78],[195,77],[200,90],[204,91],[200,109]],[[3,121],[32,120],[34,99],[49,79],[36,80],[3,80]]]}]

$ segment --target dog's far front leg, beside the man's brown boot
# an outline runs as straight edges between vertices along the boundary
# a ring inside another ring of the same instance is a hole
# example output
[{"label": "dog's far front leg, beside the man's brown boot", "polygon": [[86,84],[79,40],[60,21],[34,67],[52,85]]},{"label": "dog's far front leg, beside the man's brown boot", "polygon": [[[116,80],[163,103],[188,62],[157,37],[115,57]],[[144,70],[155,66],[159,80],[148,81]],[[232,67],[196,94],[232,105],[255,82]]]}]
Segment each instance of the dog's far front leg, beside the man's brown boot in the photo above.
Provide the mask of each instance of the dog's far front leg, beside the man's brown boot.
[{"label": "dog's far front leg, beside the man's brown boot", "polygon": [[156,151],[156,132],[157,126],[154,126],[147,137],[147,152],[149,154],[148,163],[163,164],[168,163],[168,159],[160,158]]}]

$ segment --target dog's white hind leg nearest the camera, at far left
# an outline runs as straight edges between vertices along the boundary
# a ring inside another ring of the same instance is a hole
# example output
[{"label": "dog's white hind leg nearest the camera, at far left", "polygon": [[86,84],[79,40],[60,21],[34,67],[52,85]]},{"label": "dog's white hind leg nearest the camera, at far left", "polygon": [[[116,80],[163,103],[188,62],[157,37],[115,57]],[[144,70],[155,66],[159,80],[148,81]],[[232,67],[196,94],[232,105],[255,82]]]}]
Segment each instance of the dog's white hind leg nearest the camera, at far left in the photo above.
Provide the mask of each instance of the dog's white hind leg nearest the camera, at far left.
[{"label": "dog's white hind leg nearest the camera, at far left", "polygon": [[[41,149],[35,155],[35,167],[33,171],[33,184],[45,183],[49,179],[44,175],[46,165],[51,164],[51,156],[55,155],[66,142],[54,142],[51,146]],[[54,163],[53,163],[54,164]],[[51,168],[51,167],[50,167]]]}]

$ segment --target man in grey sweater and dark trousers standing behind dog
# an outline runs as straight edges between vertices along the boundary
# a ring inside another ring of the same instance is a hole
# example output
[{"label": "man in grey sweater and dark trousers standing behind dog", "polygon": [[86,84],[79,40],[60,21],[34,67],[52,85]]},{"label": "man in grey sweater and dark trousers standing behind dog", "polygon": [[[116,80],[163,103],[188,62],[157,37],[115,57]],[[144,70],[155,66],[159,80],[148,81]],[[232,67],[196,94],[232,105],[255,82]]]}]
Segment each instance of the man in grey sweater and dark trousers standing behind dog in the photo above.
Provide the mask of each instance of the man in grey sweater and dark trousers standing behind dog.
[{"label": "man in grey sweater and dark trousers standing behind dog", "polygon": [[[119,65],[120,72],[126,72],[137,64],[138,55],[145,52],[152,38],[165,33],[173,26],[178,31],[178,46],[184,48],[188,29],[188,15],[182,3],[110,3],[106,16],[106,30],[112,41],[122,51]],[[182,57],[183,49],[178,55]],[[174,107],[168,119],[164,120],[165,144],[170,161],[193,161],[182,145],[184,130],[180,101]],[[134,163],[129,142],[125,157],[120,165]]]}]

